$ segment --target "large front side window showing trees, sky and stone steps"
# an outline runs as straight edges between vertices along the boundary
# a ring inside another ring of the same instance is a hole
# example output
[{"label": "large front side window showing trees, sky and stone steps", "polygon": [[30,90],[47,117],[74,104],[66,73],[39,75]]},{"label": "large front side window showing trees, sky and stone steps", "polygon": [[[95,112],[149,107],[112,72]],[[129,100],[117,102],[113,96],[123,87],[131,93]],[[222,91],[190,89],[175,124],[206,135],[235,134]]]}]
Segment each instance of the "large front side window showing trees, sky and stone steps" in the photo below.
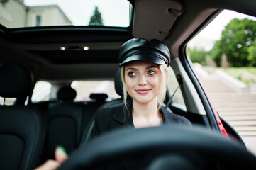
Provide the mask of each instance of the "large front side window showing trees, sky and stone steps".
[{"label": "large front side window showing trees, sky and stone steps", "polygon": [[224,10],[187,55],[216,111],[256,154],[256,18]]}]

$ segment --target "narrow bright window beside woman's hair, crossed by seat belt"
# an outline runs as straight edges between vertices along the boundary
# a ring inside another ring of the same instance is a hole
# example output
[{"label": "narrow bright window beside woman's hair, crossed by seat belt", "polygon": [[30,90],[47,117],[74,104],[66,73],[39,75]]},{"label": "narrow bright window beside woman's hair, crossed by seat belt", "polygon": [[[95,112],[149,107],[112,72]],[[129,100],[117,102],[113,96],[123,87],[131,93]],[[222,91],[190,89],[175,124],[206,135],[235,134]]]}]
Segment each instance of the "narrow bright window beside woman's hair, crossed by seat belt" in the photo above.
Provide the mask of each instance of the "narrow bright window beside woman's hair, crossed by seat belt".
[{"label": "narrow bright window beside woman's hair, crossed by seat belt", "polygon": [[167,81],[167,89],[169,91],[169,95],[172,98],[172,106],[181,108],[182,110],[186,111],[187,109],[182,96],[182,91],[179,88],[179,83],[171,67],[169,67],[169,78]]}]

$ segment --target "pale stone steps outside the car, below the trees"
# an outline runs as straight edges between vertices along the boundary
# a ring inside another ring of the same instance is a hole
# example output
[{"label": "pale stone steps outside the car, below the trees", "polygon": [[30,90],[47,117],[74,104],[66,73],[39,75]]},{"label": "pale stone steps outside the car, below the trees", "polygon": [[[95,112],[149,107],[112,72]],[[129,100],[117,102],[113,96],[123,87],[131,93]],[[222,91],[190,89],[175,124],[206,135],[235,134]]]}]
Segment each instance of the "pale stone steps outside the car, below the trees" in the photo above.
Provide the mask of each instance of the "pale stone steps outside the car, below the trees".
[{"label": "pale stone steps outside the car, below the trees", "polygon": [[247,149],[256,155],[256,94],[243,84],[223,77],[224,73],[207,74],[200,67],[196,67],[196,72],[216,111],[238,131]]}]

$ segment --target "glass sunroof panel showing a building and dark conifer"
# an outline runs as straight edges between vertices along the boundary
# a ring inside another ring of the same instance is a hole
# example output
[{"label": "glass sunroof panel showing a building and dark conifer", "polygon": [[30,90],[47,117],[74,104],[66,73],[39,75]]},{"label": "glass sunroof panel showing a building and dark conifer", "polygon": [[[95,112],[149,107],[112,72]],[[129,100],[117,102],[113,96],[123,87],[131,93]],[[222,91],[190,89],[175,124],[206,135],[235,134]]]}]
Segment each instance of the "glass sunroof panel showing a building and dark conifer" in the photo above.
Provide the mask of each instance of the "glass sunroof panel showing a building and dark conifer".
[{"label": "glass sunroof panel showing a building and dark conifer", "polygon": [[5,0],[0,23],[6,28],[38,26],[128,27],[126,0]]}]

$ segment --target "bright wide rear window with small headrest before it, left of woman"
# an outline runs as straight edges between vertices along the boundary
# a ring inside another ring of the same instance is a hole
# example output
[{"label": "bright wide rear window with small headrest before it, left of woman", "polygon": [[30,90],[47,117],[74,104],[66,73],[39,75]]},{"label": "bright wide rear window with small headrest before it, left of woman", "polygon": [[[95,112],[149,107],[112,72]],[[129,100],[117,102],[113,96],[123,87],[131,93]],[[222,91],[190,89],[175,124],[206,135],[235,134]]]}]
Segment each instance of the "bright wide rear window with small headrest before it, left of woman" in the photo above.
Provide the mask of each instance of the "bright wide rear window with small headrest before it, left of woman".
[{"label": "bright wide rear window with small headrest before it, left of woman", "polygon": [[113,81],[73,81],[72,88],[77,91],[75,101],[90,101],[90,94],[103,93],[108,95],[108,100],[119,98],[116,94]]}]

